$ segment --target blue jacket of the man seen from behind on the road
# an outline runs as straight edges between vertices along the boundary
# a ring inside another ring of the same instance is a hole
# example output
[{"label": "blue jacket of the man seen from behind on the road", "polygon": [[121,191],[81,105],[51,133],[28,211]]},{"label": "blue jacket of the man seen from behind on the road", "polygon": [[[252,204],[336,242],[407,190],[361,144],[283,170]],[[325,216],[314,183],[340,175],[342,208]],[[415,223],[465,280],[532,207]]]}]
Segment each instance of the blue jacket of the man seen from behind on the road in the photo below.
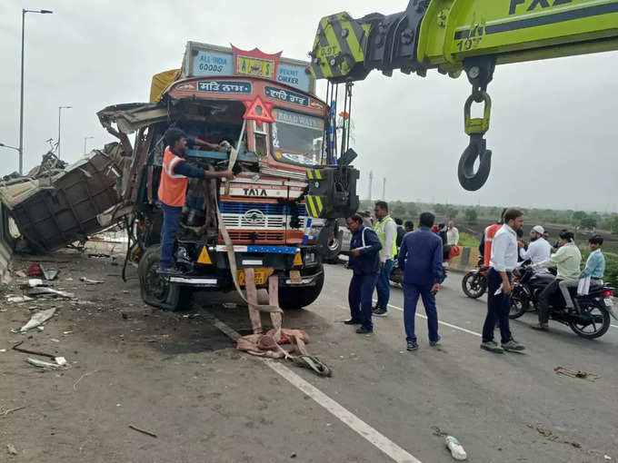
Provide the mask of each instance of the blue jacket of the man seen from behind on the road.
[{"label": "blue jacket of the man seen from behind on the road", "polygon": [[433,286],[442,280],[442,239],[427,227],[406,233],[399,250],[404,284]]}]

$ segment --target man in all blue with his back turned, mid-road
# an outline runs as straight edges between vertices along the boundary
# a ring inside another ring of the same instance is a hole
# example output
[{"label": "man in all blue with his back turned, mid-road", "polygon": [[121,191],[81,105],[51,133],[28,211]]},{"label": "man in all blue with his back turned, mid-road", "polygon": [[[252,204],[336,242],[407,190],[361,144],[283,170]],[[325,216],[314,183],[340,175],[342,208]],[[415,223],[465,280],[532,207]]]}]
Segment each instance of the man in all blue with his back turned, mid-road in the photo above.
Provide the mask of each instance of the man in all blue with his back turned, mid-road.
[{"label": "man in all blue with his back turned, mid-road", "polygon": [[443,275],[443,244],[442,239],[431,231],[434,220],[433,213],[423,212],[419,230],[404,236],[399,251],[399,268],[404,271],[404,325],[407,350],[418,349],[414,333],[414,317],[419,296],[423,298],[427,314],[429,344],[435,346],[440,340],[435,294],[440,291]]}]

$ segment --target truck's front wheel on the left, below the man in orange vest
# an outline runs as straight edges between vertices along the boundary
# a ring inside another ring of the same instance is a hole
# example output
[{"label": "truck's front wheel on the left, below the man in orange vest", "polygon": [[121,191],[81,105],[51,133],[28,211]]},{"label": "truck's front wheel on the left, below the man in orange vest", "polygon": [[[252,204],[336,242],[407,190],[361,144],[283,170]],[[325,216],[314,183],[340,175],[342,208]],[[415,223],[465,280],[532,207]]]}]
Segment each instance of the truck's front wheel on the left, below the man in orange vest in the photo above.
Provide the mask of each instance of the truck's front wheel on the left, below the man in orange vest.
[{"label": "truck's front wheel on the left, below the man in orange vest", "polygon": [[170,284],[156,271],[159,269],[160,246],[147,248],[139,261],[137,274],[142,300],[163,310],[188,310],[191,291],[177,284]]}]

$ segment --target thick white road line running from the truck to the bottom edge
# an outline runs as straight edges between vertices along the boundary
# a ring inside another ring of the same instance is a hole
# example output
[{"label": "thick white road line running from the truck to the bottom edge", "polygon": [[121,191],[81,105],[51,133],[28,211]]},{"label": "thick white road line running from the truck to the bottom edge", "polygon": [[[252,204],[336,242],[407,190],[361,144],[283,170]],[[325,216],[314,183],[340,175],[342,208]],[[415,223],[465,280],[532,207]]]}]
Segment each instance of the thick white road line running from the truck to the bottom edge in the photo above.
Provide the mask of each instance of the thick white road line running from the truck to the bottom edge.
[{"label": "thick white road line running from the truck to the bottom edge", "polygon": [[[240,338],[240,334],[233,328],[227,326],[223,321],[216,319],[214,316],[209,315],[208,318],[212,321],[213,325],[221,330],[226,336],[232,340]],[[378,448],[388,457],[396,461],[397,463],[422,463],[420,459],[415,458],[413,455],[399,447],[390,438],[387,438],[377,429],[372,428],[362,419],[358,418],[350,410],[345,409],[342,405],[335,402],[328,397],[320,389],[315,388],[311,383],[305,381],[298,376],[294,371],[288,369],[284,364],[275,360],[261,359],[256,357],[256,360],[262,360],[270,368],[273,369],[278,375],[287,380],[296,389],[299,389],[305,395],[314,399],[314,401],[322,406],[324,409],[334,415],[335,418],[340,419],[348,428],[359,434],[375,448]]]}]

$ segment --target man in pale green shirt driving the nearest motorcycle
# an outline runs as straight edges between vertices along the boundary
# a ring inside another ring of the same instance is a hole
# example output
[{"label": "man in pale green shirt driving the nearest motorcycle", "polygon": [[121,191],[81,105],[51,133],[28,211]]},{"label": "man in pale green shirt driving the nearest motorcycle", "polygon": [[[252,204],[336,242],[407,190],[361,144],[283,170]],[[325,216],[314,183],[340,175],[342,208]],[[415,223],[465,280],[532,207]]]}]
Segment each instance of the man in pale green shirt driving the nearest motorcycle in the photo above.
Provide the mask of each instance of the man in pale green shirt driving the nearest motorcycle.
[{"label": "man in pale green shirt driving the nearest motorcycle", "polygon": [[[539,322],[532,326],[534,330],[549,330],[549,300],[553,294],[561,290],[560,282],[568,281],[577,286],[580,276],[580,263],[582,253],[573,241],[572,232],[560,232],[560,248],[548,260],[534,263],[530,267],[542,269],[543,267],[555,267],[558,275],[539,295]],[[573,308],[573,300],[568,288],[563,291],[563,297],[567,308]]]}]

